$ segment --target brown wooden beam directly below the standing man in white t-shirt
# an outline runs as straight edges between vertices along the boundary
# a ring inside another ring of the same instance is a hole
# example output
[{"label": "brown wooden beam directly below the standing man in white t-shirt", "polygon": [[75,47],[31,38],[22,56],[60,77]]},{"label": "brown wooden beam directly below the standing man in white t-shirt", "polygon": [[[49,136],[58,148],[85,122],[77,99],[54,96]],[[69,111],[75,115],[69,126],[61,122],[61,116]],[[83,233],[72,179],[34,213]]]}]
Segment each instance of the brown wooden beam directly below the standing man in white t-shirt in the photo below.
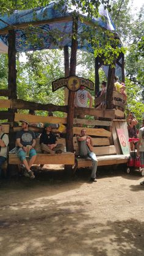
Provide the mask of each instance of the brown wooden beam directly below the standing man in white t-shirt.
[{"label": "brown wooden beam directly below the standing man in white t-shirt", "polygon": [[115,111],[114,109],[95,109],[95,108],[75,108],[74,114],[81,115],[91,115],[94,117],[104,117],[109,119],[115,118]]}]

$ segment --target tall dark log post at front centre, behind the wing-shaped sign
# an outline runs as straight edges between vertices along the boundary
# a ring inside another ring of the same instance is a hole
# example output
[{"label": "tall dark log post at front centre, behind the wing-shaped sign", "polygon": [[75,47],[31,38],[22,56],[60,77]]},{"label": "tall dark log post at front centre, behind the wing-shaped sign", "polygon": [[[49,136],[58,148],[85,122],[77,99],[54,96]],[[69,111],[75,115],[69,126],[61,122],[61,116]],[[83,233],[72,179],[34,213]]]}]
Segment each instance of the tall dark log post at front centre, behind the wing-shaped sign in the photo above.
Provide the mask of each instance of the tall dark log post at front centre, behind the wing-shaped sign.
[{"label": "tall dark log post at front centre, behind the wing-shaped sign", "polygon": [[[76,75],[77,23],[78,23],[78,17],[75,16],[73,17],[73,33],[72,33],[73,38],[71,41],[70,76]],[[70,152],[73,152],[74,95],[75,95],[75,92],[69,91],[66,146],[67,146],[67,151],[70,151]]]}]

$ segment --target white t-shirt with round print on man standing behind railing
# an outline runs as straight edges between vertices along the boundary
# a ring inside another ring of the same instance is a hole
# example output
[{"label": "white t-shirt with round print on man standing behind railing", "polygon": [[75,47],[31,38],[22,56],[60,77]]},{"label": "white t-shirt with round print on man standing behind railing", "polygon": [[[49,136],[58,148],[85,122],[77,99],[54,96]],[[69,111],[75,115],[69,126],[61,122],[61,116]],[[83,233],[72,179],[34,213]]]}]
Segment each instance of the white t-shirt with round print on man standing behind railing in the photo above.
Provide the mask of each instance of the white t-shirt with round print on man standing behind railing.
[{"label": "white t-shirt with round print on man standing behind railing", "polygon": [[74,105],[77,107],[87,108],[88,95],[90,93],[87,90],[77,90],[76,97],[74,99]]}]

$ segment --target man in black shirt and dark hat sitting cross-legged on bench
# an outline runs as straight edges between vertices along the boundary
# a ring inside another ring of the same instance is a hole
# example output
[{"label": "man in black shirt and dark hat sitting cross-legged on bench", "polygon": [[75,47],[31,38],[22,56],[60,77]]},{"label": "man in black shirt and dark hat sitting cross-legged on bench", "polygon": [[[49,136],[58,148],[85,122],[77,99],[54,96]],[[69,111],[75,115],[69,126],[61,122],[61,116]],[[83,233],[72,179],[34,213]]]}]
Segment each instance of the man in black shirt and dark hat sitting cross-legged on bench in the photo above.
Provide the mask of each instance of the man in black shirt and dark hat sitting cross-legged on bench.
[{"label": "man in black shirt and dark hat sitting cross-legged on bench", "polygon": [[62,153],[63,144],[57,144],[57,137],[52,133],[51,123],[45,123],[43,133],[40,136],[41,151],[44,153]]}]

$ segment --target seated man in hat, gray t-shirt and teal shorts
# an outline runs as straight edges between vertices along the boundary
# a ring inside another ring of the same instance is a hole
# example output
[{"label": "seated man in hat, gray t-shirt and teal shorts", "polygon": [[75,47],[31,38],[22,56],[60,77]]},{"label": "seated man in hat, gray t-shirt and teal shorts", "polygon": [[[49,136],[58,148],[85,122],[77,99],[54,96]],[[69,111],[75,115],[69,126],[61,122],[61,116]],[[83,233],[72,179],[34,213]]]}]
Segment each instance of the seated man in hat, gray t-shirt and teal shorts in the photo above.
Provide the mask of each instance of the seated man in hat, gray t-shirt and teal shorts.
[{"label": "seated man in hat, gray t-shirt and teal shorts", "polygon": [[[35,147],[35,134],[33,131],[29,131],[29,122],[27,120],[21,120],[21,131],[16,133],[16,148],[18,157],[20,158],[21,162],[26,167],[26,170],[29,174],[31,180],[35,178],[34,172],[30,169],[32,164],[34,164],[36,158],[36,151]],[[29,148],[28,148],[28,147]],[[27,163],[26,153],[29,150],[29,163]]]}]

